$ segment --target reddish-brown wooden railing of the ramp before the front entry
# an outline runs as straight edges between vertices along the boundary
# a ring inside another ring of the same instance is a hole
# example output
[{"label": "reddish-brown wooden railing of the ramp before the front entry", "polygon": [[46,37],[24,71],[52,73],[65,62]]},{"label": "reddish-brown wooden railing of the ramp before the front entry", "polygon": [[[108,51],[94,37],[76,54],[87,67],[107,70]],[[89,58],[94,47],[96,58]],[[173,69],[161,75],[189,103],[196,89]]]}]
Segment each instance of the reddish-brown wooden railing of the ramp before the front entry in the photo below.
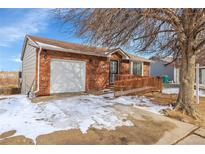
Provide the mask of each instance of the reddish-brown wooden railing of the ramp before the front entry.
[{"label": "reddish-brown wooden railing of the ramp before the front entry", "polygon": [[115,81],[114,90],[115,96],[140,93],[144,91],[161,91],[162,80],[160,77],[122,75],[118,76],[118,80]]}]

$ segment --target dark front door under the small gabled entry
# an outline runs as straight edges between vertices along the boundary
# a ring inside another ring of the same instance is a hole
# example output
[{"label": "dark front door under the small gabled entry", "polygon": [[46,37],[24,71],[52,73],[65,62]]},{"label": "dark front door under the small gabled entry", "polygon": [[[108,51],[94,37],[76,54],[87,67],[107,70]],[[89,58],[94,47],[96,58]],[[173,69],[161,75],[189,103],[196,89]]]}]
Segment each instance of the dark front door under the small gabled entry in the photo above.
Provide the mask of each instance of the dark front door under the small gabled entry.
[{"label": "dark front door under the small gabled entry", "polygon": [[118,74],[118,61],[110,61],[110,84],[115,82]]}]

